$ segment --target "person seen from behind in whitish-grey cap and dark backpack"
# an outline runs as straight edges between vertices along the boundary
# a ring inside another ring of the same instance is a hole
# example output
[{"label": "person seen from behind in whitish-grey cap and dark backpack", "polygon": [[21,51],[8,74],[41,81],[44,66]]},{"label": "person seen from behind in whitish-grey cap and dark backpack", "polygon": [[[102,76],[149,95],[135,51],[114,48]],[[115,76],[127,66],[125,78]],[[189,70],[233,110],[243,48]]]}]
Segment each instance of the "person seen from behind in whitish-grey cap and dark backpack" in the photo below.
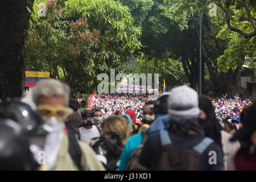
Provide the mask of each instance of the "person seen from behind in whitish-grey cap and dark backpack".
[{"label": "person seen from behind in whitish-grey cap and dark backpack", "polygon": [[222,170],[223,156],[213,139],[204,137],[199,124],[199,99],[195,90],[178,86],[168,98],[170,126],[148,136],[139,163],[151,170]]}]

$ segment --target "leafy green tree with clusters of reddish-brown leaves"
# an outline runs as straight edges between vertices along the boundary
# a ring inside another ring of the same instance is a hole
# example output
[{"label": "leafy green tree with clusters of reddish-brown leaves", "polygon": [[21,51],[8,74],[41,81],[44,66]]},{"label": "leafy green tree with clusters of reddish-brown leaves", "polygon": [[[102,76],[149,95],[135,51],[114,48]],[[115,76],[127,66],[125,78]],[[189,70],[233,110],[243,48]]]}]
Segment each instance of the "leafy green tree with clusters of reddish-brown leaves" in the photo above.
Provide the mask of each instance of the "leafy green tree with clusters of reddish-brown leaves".
[{"label": "leafy green tree with clusters of reddish-brown leaves", "polygon": [[99,73],[126,71],[123,65],[141,45],[127,7],[108,0],[51,0],[46,7],[47,16],[34,14],[30,23],[27,69],[50,71],[72,93],[88,94],[97,89]]}]

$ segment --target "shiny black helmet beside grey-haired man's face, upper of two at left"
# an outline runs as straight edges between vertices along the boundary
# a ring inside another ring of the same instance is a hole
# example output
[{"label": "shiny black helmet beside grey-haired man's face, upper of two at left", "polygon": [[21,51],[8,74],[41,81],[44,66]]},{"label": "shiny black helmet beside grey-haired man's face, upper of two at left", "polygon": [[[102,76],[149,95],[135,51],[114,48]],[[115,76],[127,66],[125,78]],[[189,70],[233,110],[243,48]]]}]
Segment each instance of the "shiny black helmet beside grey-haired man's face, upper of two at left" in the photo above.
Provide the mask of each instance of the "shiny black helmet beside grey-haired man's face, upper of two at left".
[{"label": "shiny black helmet beside grey-haired man's face, upper of two at left", "polygon": [[0,118],[13,119],[31,135],[45,135],[47,133],[43,129],[44,123],[38,111],[20,101],[19,98],[7,99],[0,104]]}]

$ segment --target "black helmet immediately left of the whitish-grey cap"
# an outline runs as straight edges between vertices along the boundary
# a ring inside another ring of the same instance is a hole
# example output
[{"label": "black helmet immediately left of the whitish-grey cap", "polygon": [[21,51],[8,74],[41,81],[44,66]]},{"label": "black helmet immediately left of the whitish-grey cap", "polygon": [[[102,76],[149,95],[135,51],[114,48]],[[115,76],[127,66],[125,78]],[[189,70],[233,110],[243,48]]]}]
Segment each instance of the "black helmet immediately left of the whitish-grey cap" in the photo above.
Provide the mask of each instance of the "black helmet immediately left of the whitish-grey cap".
[{"label": "black helmet immediately left of the whitish-grey cap", "polygon": [[164,94],[155,100],[153,111],[155,113],[168,114],[168,98],[169,94]]}]

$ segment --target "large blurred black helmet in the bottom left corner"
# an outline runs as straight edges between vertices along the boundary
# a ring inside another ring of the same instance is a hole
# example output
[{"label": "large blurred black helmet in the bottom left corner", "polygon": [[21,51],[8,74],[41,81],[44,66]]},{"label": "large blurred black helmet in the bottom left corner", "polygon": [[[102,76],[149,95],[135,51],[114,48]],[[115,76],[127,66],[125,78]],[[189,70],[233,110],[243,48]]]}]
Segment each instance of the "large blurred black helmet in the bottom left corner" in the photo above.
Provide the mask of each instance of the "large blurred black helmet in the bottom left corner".
[{"label": "large blurred black helmet in the bottom left corner", "polygon": [[0,170],[35,170],[28,137],[22,127],[11,119],[0,118]]}]

